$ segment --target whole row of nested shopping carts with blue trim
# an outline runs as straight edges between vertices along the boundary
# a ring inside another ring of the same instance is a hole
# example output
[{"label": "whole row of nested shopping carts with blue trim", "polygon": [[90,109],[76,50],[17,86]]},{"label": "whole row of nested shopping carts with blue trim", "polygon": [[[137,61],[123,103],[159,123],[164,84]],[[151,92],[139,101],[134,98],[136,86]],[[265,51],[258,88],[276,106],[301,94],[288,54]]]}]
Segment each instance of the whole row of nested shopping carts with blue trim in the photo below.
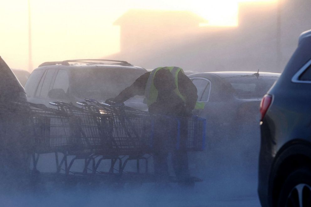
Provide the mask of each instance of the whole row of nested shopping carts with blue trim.
[{"label": "whole row of nested shopping carts with blue trim", "polygon": [[[27,152],[32,154],[34,171],[37,172],[41,154],[55,154],[56,172],[46,173],[49,179],[74,177],[152,182],[154,176],[149,172],[148,160],[155,150],[159,150],[156,148],[159,142],[156,133],[164,132],[160,150],[168,152],[201,151],[205,145],[206,121],[197,116],[152,115],[90,99],[78,102],[79,106],[61,101],[50,104],[56,108],[19,104],[22,110],[16,113],[24,123],[24,140],[21,143],[28,146]],[[5,128],[2,126],[0,133],[4,133]],[[76,160],[84,160],[81,171],[72,170]],[[103,160],[110,161],[110,164],[102,165]],[[136,163],[128,165],[130,160]],[[126,166],[132,170],[126,170]],[[44,177],[45,173],[40,175]]]}]

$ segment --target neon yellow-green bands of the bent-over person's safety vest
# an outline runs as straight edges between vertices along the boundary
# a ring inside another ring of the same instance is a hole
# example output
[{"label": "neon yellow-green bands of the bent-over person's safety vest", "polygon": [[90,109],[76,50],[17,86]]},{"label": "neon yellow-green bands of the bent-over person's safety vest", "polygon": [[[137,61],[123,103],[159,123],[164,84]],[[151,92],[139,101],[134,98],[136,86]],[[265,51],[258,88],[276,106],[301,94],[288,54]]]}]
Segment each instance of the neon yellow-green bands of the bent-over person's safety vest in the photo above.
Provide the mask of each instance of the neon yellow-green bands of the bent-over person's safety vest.
[{"label": "neon yellow-green bands of the bent-over person's safety vest", "polygon": [[158,90],[156,90],[156,88],[155,88],[155,85],[153,83],[153,79],[155,77],[156,72],[159,70],[169,70],[171,72],[171,74],[173,75],[173,78],[175,80],[175,85],[176,85],[174,92],[177,94],[177,96],[179,96],[182,99],[182,101],[185,102],[186,101],[185,97],[182,96],[182,94],[178,90],[178,73],[179,72],[184,73],[184,71],[179,67],[158,67],[158,68],[151,71],[149,78],[147,80],[147,84],[146,84],[146,88],[145,88],[145,97],[146,97],[145,100],[146,100],[147,105],[150,106],[158,98]]}]

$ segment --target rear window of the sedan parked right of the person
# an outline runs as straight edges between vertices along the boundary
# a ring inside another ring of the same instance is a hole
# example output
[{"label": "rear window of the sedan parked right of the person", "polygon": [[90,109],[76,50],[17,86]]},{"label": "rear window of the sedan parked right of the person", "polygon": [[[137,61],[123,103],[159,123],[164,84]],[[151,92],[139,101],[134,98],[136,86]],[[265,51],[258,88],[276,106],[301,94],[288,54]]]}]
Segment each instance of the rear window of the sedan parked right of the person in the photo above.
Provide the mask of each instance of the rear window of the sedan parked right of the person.
[{"label": "rear window of the sedan parked right of the person", "polygon": [[252,99],[262,98],[277,77],[230,77],[225,79],[234,89],[237,98]]}]

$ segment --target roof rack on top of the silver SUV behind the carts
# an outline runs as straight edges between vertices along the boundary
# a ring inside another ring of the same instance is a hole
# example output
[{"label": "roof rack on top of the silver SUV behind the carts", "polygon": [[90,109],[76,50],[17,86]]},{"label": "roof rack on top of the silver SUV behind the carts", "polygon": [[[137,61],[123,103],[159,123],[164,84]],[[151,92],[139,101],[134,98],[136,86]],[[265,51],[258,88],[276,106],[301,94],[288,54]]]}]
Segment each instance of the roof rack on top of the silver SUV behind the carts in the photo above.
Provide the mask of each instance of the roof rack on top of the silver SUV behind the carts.
[{"label": "roof rack on top of the silver SUV behind the carts", "polygon": [[124,65],[124,66],[133,66],[132,64],[123,61],[123,60],[106,60],[106,59],[80,59],[80,60],[63,60],[63,61],[54,61],[54,62],[44,62],[40,64],[38,67],[41,66],[47,66],[47,65],[67,65],[69,66],[70,62],[74,63],[85,63],[89,65],[95,65],[95,64],[102,64],[107,65],[107,63],[101,63],[101,62],[91,62],[91,61],[112,61],[117,63],[111,63],[110,65]]}]

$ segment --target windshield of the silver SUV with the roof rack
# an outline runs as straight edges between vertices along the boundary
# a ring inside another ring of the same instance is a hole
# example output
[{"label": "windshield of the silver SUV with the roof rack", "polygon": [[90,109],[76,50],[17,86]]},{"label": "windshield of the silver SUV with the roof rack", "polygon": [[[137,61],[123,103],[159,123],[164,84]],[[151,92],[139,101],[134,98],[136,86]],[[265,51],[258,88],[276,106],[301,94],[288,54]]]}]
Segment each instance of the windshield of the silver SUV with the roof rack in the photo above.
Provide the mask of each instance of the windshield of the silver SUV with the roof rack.
[{"label": "windshield of the silver SUV with the roof rack", "polygon": [[144,73],[137,69],[78,68],[72,73],[72,92],[78,98],[106,100],[117,96]]}]

